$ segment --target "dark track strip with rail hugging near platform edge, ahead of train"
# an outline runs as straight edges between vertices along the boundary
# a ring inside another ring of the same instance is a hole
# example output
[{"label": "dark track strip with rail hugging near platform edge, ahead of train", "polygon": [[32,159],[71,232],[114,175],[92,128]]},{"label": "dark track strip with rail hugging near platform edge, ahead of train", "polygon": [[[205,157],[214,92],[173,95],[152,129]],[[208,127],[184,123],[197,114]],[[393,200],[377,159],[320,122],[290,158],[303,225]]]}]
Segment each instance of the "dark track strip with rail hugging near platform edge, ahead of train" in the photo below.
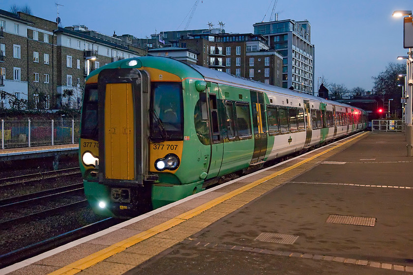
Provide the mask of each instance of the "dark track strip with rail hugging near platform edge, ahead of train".
[{"label": "dark track strip with rail hugging near platform edge, ahead of train", "polygon": [[119,222],[120,220],[113,218],[99,220],[94,223],[85,225],[83,227],[62,233],[58,236],[54,236],[46,240],[37,242],[35,244],[31,244],[26,247],[21,247],[19,249],[2,254],[0,255],[0,268],[17,263],[29,257],[33,257],[55,247],[59,247],[61,245],[70,243],[82,237],[88,236],[110,226],[113,226]]}]

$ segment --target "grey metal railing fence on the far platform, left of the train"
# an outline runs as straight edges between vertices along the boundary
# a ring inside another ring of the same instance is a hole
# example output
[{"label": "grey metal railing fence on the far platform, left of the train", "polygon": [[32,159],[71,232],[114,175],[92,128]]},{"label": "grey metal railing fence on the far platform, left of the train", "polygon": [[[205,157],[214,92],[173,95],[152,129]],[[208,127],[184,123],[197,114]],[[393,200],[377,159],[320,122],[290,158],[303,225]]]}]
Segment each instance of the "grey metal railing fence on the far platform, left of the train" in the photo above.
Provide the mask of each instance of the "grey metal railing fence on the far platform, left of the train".
[{"label": "grey metal railing fence on the far platform, left of the train", "polygon": [[1,119],[0,127],[1,149],[74,144],[79,140],[80,121]]}]

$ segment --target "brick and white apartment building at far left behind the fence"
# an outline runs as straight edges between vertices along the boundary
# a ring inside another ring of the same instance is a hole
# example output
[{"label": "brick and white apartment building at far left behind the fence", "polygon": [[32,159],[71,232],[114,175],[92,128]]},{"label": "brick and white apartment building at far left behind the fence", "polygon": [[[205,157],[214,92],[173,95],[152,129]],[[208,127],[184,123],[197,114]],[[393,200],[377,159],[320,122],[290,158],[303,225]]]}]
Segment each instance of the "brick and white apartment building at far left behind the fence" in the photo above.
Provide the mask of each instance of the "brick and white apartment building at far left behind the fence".
[{"label": "brick and white apartment building at far left behind the fence", "polygon": [[146,51],[86,26],[0,10],[0,108],[80,108],[86,76]]}]

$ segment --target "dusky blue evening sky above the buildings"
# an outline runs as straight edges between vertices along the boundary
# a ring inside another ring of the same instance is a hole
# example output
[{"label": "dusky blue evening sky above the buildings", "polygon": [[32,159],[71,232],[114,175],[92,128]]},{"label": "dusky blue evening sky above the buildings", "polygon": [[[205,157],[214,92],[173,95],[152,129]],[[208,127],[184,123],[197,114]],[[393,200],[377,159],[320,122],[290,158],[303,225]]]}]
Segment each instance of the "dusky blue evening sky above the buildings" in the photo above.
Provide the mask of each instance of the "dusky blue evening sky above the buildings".
[{"label": "dusky blue evening sky above the buildings", "polygon": [[[112,35],[150,37],[160,31],[184,29],[196,0],[0,0],[0,9],[25,5],[32,15],[55,21],[59,3],[62,27],[86,25]],[[208,22],[226,32],[253,33],[253,24],[269,21],[273,0],[201,0],[188,29],[208,28]],[[269,7],[269,9],[268,9]],[[315,47],[315,86],[318,77],[347,88],[372,90],[372,77],[385,70],[403,48],[403,19],[394,10],[412,10],[412,0],[278,0],[278,20],[308,20]],[[185,19],[186,17],[186,19]],[[274,16],[272,16],[274,19]],[[179,27],[180,25],[180,27]],[[317,88],[316,88],[317,89]]]}]

